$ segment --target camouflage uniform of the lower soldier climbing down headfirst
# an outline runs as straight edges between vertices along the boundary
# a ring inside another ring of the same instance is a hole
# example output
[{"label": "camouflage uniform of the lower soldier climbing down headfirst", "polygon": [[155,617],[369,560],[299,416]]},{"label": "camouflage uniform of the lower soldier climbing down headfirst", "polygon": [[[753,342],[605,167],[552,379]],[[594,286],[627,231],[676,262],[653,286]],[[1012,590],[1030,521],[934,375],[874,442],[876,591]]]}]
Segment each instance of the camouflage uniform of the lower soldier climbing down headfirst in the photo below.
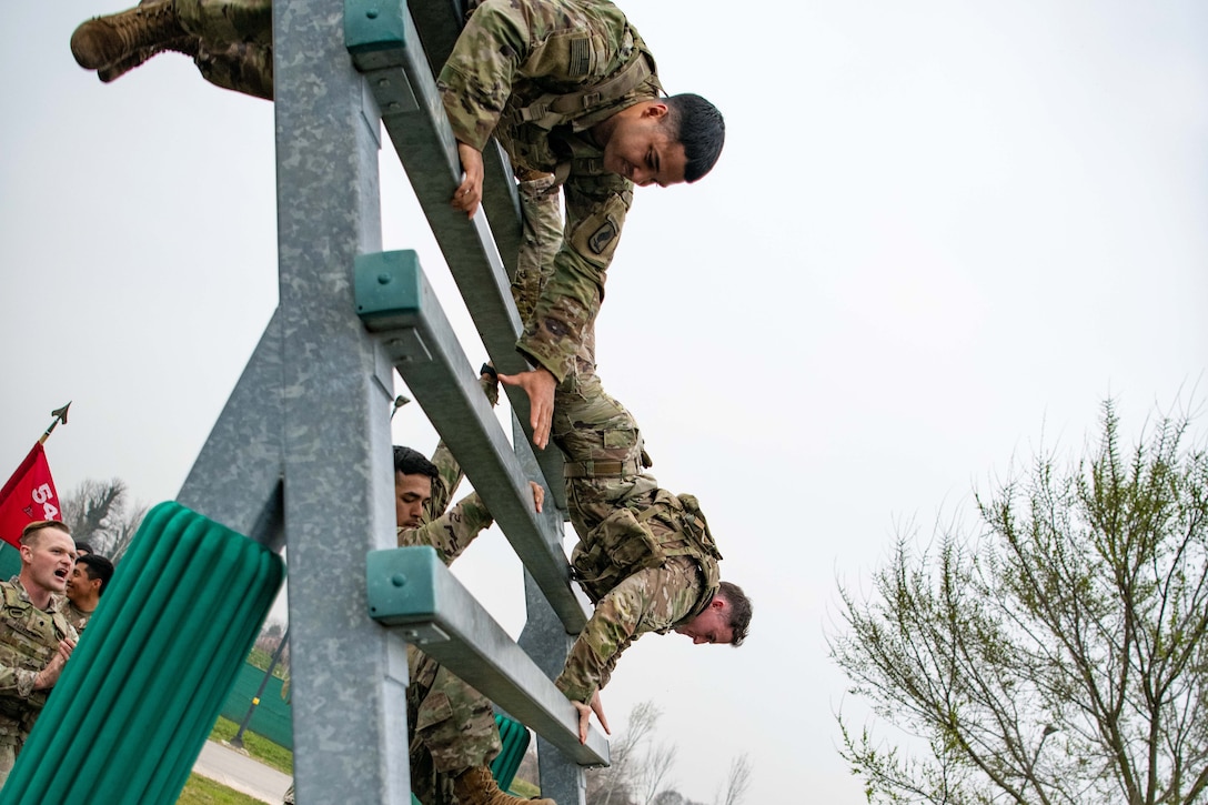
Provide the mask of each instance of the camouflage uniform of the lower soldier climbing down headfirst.
[{"label": "camouflage uniform of the lower soldier climbing down headfirst", "polygon": [[[527,309],[547,273],[535,267],[557,243],[557,196],[521,183],[525,238],[512,286]],[[593,323],[594,324],[594,323]],[[608,684],[617,658],[646,632],[666,633],[699,614],[718,590],[718,552],[691,496],[658,487],[633,415],[596,375],[594,326],[554,394],[551,438],[567,457],[567,498],[579,533],[575,575],[596,610],[571,647],[558,688],[586,702]]]}]

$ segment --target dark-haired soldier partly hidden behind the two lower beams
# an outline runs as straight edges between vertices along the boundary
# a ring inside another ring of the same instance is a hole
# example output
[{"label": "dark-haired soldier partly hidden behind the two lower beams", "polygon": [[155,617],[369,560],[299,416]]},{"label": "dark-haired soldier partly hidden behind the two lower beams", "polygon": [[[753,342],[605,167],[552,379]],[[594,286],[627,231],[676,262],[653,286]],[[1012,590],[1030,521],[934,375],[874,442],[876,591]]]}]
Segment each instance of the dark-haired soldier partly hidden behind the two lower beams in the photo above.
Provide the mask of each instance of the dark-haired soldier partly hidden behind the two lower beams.
[{"label": "dark-haired soldier partly hidden behind the two lower beams", "polygon": [[[493,370],[480,378],[492,405],[499,399]],[[489,528],[493,519],[478,493],[452,509],[464,474],[442,441],[429,462],[410,447],[394,448],[395,517],[399,546],[430,545],[446,564]],[[536,510],[545,491],[532,483]],[[448,509],[448,510],[446,510]],[[411,788],[424,805],[518,805],[499,790],[488,764],[499,754],[499,728],[490,702],[434,659],[407,645],[407,725],[411,730]],[[294,801],[292,787],[285,795]],[[553,800],[534,800],[556,805]]]}]

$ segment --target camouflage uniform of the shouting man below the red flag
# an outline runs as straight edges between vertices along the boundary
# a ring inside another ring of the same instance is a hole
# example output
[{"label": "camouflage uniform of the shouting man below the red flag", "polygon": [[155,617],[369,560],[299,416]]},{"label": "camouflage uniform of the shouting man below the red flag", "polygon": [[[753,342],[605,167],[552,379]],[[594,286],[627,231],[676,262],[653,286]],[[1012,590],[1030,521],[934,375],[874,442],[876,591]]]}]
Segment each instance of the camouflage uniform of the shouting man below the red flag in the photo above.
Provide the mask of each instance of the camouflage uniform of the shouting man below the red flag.
[{"label": "camouflage uniform of the shouting man below the red flag", "polygon": [[0,786],[8,778],[21,747],[48,690],[34,690],[34,679],[59,650],[59,641],[76,639],[75,629],[57,612],[39,609],[21,581],[0,583]]}]

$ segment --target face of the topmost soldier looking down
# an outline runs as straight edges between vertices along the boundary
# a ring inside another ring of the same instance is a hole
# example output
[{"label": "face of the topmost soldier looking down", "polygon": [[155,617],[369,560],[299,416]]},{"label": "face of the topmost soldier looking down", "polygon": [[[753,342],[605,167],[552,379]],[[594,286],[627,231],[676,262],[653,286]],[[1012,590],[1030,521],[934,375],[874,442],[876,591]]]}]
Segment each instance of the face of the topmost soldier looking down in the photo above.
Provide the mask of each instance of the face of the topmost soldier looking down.
[{"label": "face of the topmost soldier looking down", "polygon": [[604,144],[604,168],[643,187],[684,181],[687,157],[684,145],[672,139],[663,126],[666,117],[667,105],[654,102],[614,115],[615,123]]}]

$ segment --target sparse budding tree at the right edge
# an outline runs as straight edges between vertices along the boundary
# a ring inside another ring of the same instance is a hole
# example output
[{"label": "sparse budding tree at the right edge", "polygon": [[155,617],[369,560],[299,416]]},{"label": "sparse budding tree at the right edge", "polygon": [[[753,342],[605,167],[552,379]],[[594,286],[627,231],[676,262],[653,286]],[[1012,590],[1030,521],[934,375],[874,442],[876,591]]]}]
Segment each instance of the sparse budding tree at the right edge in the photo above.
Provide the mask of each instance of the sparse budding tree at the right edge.
[{"label": "sparse budding tree at the right edge", "polygon": [[869,801],[1204,801],[1208,453],[1189,422],[1126,453],[1105,402],[1076,465],[1041,456],[977,497],[978,533],[902,537],[871,597],[841,589],[852,693],[928,747],[840,713]]}]

